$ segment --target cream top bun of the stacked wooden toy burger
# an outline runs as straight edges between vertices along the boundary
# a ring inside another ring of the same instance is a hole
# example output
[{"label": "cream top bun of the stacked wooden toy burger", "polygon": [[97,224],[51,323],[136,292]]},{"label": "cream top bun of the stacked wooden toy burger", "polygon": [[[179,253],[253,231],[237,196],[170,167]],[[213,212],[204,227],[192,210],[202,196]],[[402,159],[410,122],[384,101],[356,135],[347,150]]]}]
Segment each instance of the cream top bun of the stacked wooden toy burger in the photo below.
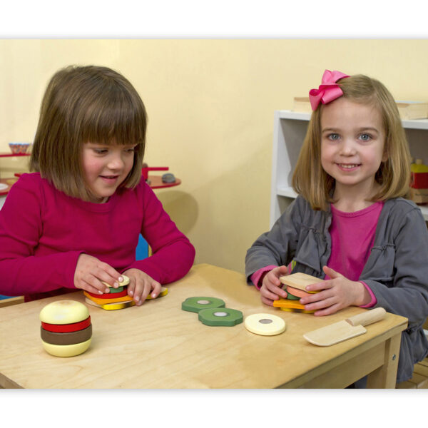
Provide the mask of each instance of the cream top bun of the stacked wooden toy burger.
[{"label": "cream top bun of the stacked wooden toy burger", "polygon": [[88,308],[75,300],[58,300],[49,303],[41,311],[39,318],[49,324],[71,324],[86,320],[89,316]]}]

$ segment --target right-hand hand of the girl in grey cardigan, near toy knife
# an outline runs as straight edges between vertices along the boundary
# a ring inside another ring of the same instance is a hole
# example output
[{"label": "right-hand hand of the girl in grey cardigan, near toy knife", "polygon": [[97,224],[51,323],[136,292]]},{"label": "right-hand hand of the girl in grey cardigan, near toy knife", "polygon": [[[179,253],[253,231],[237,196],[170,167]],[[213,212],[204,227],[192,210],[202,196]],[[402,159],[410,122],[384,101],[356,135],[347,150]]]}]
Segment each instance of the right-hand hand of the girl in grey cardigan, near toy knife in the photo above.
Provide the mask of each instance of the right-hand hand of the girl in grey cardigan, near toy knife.
[{"label": "right-hand hand of the girl in grey cardigan, near toy knife", "polygon": [[371,297],[366,287],[357,281],[348,280],[330,267],[322,267],[330,280],[307,285],[307,291],[322,290],[307,297],[302,297],[300,303],[305,310],[317,310],[314,315],[330,315],[348,306],[367,305]]}]

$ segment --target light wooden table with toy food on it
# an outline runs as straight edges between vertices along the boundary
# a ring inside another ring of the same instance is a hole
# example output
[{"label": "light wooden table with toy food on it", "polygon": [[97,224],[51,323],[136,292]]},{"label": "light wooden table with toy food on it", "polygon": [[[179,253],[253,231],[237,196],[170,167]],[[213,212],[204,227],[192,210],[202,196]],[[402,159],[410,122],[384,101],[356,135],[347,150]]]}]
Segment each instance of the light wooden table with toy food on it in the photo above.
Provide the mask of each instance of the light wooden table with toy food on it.
[{"label": "light wooden table with toy food on it", "polygon": [[[369,374],[368,386],[394,388],[399,343],[407,319],[387,317],[367,333],[332,347],[306,342],[303,333],[363,310],[351,307],[328,317],[284,312],[260,302],[244,275],[195,265],[168,285],[165,297],[141,307],[104,311],[88,305],[93,341],[71,358],[47,354],[40,342],[39,312],[54,300],[83,302],[83,292],[49,297],[0,310],[0,386],[6,388],[342,388]],[[254,335],[243,324],[208,327],[181,310],[187,297],[220,297],[244,318],[268,312],[287,330]]]}]

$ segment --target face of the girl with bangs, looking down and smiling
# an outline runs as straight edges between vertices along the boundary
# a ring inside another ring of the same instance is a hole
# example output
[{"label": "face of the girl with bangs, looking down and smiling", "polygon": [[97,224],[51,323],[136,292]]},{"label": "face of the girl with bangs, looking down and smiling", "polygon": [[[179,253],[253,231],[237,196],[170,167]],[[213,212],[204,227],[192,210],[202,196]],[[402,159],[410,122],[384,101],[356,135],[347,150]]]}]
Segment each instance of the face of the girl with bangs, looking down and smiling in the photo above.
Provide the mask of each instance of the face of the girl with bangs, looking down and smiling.
[{"label": "face of the girl with bangs, looking down and smiling", "polygon": [[118,146],[85,143],[82,165],[91,202],[104,203],[116,192],[133,167],[135,144]]}]

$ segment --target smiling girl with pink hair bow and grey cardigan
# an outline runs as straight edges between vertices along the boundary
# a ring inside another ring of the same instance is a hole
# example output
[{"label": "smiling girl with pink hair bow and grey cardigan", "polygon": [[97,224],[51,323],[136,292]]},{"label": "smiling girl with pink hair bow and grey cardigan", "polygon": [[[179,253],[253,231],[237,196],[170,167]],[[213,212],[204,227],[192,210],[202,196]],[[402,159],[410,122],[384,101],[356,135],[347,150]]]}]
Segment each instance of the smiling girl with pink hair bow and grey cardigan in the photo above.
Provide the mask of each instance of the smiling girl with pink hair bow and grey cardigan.
[{"label": "smiling girl with pink hair bow and grey cardigan", "polygon": [[266,305],[287,297],[280,276],[304,272],[326,280],[300,299],[316,316],[355,305],[407,317],[402,382],[428,354],[428,231],[417,205],[402,198],[410,158],[397,106],[379,81],[328,70],[310,101],[292,178],[299,195],[248,250],[245,273]]}]

